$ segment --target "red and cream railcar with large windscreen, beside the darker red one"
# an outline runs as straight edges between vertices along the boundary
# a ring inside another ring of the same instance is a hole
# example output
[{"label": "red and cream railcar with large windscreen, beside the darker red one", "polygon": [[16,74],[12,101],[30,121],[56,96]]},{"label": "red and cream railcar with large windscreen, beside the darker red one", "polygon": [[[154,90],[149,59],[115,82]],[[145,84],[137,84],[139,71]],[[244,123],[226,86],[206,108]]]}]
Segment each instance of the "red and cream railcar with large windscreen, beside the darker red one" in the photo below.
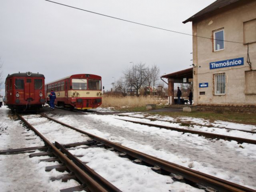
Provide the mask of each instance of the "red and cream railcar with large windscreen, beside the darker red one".
[{"label": "red and cream railcar with large windscreen, beside the darker red one", "polygon": [[[94,74],[74,74],[57,81],[47,83],[46,96],[56,94],[54,104],[60,107],[76,109],[95,109],[101,105],[101,76]],[[50,99],[47,97],[47,103]]]}]

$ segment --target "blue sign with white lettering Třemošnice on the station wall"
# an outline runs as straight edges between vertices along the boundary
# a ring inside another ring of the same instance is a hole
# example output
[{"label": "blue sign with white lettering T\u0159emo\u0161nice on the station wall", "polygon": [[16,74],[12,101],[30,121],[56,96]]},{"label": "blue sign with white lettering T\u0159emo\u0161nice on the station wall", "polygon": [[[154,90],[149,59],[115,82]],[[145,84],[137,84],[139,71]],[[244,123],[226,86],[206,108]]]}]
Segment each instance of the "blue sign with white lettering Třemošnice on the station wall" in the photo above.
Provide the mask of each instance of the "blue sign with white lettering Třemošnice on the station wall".
[{"label": "blue sign with white lettering T\u0159emo\u0161nice on the station wall", "polygon": [[224,67],[234,67],[238,65],[244,65],[244,58],[236,58],[231,60],[223,60],[223,61],[216,61],[210,63],[210,70],[224,68]]}]

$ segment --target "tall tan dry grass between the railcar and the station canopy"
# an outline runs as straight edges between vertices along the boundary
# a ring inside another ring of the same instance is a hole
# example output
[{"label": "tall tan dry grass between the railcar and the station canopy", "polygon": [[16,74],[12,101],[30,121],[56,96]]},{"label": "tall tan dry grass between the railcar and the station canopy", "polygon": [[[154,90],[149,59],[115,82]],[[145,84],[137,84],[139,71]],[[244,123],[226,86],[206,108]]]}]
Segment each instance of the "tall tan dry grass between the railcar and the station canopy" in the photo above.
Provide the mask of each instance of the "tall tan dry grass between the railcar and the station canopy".
[{"label": "tall tan dry grass between the railcar and the station canopy", "polygon": [[161,100],[153,97],[118,97],[118,96],[103,96],[102,97],[102,105],[101,107],[138,107],[138,106],[146,106],[146,104],[165,104],[167,100]]}]

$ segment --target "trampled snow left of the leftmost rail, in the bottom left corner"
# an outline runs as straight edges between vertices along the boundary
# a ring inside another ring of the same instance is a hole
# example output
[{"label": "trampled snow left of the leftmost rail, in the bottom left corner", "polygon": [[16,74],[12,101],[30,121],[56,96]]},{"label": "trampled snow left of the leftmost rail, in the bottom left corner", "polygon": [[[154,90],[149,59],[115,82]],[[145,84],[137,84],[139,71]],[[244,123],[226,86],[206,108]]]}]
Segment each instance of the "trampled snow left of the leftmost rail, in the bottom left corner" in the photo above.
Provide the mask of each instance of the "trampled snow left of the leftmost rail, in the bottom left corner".
[{"label": "trampled snow left of the leftmost rail, in the bottom left corner", "polygon": [[[44,146],[43,141],[33,131],[23,127],[20,121],[12,119],[10,110],[6,106],[2,106],[0,109],[0,117],[0,151]],[[59,192],[60,189],[78,185],[75,180],[66,183],[50,181],[50,177],[60,174],[56,170],[45,172],[46,166],[54,164],[56,163],[39,162],[39,157],[29,158],[28,153],[0,155],[0,191]]]}]

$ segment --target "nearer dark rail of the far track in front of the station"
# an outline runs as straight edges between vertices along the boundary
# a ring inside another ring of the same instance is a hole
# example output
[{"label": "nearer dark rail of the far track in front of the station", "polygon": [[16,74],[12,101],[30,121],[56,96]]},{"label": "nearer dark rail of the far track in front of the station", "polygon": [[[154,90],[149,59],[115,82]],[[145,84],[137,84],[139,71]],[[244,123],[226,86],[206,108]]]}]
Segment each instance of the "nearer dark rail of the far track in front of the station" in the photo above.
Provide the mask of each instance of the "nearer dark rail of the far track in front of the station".
[{"label": "nearer dark rail of the far track in front of the station", "polygon": [[[120,115],[120,116],[123,116],[123,115]],[[128,116],[128,117],[130,117],[130,116]],[[137,117],[135,117],[135,118],[137,118]],[[140,118],[140,119],[148,119],[148,118]],[[176,128],[176,127],[163,126],[163,125],[138,122],[138,121],[131,121],[131,120],[126,120],[126,119],[120,119],[120,120],[132,122],[132,123],[136,123],[136,124],[141,124],[141,125],[146,125],[146,126],[158,127],[161,129],[169,129],[169,130],[183,132],[183,133],[197,134],[199,136],[204,136],[204,137],[211,138],[211,139],[224,139],[224,140],[228,140],[228,141],[237,141],[239,144],[241,144],[241,143],[256,144],[256,140],[253,140],[253,139],[246,139],[246,138],[226,136],[226,135],[220,135],[220,134],[214,134],[214,133],[208,133],[208,132],[194,131],[194,130],[190,130],[190,129],[181,129],[181,128]],[[149,119],[149,120],[151,120],[151,119]],[[161,120],[154,119],[154,121],[161,121]],[[167,122],[169,122],[169,121],[167,121]],[[178,123],[178,122],[176,122],[176,123]],[[216,128],[219,128],[219,127],[216,127]]]}]

